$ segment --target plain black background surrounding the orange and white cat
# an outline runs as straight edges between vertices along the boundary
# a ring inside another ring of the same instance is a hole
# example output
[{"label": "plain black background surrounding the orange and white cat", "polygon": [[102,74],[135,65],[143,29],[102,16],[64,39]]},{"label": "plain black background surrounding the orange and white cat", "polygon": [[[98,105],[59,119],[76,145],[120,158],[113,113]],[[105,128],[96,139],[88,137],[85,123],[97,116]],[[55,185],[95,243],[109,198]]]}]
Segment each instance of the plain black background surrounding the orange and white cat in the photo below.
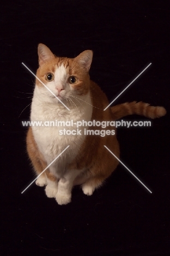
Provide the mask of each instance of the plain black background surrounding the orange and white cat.
[{"label": "plain black background surrounding the orange and white cat", "polygon": [[[1,255],[170,255],[169,23],[168,1],[1,4]],[[21,194],[35,177],[21,126],[34,77],[21,62],[36,72],[38,43],[58,56],[92,49],[90,77],[110,102],[152,63],[114,102],[167,109],[149,128],[118,129],[120,158],[152,194],[121,165],[92,196],[75,188],[66,206],[35,184]]]}]

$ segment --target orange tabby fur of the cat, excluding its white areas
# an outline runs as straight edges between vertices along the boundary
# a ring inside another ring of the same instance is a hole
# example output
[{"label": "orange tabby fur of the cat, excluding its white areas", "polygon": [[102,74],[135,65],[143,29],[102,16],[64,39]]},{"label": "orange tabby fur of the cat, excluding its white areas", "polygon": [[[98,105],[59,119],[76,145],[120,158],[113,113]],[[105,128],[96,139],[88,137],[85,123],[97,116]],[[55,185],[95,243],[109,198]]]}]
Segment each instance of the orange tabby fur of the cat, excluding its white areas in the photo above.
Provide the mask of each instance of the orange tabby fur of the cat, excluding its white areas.
[{"label": "orange tabby fur of the cat, excluding its white areas", "polygon": [[[90,68],[90,63],[83,67],[83,65],[79,65],[77,62],[77,60],[79,60],[78,58],[82,57],[85,52],[77,56],[75,59],[68,59],[66,57],[59,58],[54,56],[50,49],[46,47],[46,51],[48,52],[48,60],[45,60],[41,46],[42,45],[40,44],[38,48],[40,67],[37,71],[37,76],[39,79],[43,83],[46,83],[44,74],[47,72],[54,72],[56,66],[60,66],[62,63],[70,75],[74,74],[79,78],[78,83],[74,85],[74,90],[77,95],[86,95],[90,90],[90,96],[92,97],[93,102],[93,113],[91,120],[117,120],[125,115],[131,114],[139,114],[149,118],[157,118],[166,114],[166,110],[163,107],[153,107],[149,106],[147,103],[136,103],[135,101],[109,107],[104,111],[103,109],[108,106],[109,102],[104,92],[102,92],[99,86],[92,82],[92,80],[89,78],[88,70]],[[92,51],[86,51],[86,54],[92,54]],[[43,86],[38,80],[36,80],[36,84],[36,86]],[[91,126],[89,129],[96,130],[96,126]],[[107,126],[105,129],[103,129],[99,126],[98,130],[113,130],[113,127]],[[114,130],[116,131],[115,127]],[[108,150],[106,150],[104,145],[106,145],[119,158],[119,143],[116,135],[106,135],[105,137],[88,135],[85,137],[78,154],[74,160],[72,160],[68,166],[66,166],[70,171],[75,169],[82,170],[84,167],[87,169],[85,172],[81,173],[80,176],[75,178],[73,185],[81,184],[83,191],[85,191],[85,184],[86,188],[89,186],[93,188],[92,190],[94,190],[95,188],[100,187],[105,179],[109,177],[115,170],[119,164],[119,161],[115,159],[114,156],[108,152]],[[27,152],[32,161],[35,172],[37,174],[43,172],[43,170],[47,167],[47,164],[44,160],[43,154],[38,149],[37,143],[34,139],[32,127],[29,127],[27,133]],[[58,181],[57,177],[50,173],[49,170],[46,170],[43,174],[41,174],[41,176],[42,178],[44,177],[44,179],[47,177],[52,182]],[[37,183],[37,185],[41,184]],[[91,195],[93,191],[89,191],[88,193],[86,190],[84,193]]]}]

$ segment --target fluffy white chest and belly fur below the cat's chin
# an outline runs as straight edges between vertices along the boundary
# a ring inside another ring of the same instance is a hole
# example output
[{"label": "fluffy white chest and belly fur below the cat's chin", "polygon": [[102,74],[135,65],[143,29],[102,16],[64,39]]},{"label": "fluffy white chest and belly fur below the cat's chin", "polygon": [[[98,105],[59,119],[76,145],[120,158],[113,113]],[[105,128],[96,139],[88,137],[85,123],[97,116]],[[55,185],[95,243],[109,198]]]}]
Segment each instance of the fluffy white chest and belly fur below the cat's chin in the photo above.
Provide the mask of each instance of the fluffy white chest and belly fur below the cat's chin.
[{"label": "fluffy white chest and belly fur below the cat's chin", "polygon": [[[44,102],[44,96],[39,93],[39,88],[35,86],[34,96],[31,108],[31,121],[82,121],[91,120],[92,117],[92,102],[90,93],[83,96],[81,104],[72,106],[70,111],[66,109],[57,99],[51,102]],[[55,165],[59,169],[65,168],[77,155],[81,144],[84,141],[84,129],[80,127],[81,135],[59,135],[59,130],[76,130],[76,126],[61,127],[61,126],[32,126],[35,142],[38,145],[40,152],[49,165],[67,146],[70,146],[66,151],[59,156]],[[54,165],[53,165],[54,167]],[[55,168],[56,169],[56,168]]]}]

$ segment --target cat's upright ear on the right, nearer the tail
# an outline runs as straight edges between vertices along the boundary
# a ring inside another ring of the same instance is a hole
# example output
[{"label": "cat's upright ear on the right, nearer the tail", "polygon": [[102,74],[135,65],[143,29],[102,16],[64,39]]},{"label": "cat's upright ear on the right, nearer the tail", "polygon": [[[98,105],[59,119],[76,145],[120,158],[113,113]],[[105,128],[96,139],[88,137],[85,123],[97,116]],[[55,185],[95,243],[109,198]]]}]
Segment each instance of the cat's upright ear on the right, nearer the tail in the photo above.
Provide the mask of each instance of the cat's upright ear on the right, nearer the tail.
[{"label": "cat's upright ear on the right, nearer the tail", "polygon": [[75,57],[75,60],[78,63],[80,63],[82,66],[84,66],[87,72],[89,71],[90,66],[92,64],[92,59],[93,59],[93,51],[91,50],[83,51],[81,54]]}]

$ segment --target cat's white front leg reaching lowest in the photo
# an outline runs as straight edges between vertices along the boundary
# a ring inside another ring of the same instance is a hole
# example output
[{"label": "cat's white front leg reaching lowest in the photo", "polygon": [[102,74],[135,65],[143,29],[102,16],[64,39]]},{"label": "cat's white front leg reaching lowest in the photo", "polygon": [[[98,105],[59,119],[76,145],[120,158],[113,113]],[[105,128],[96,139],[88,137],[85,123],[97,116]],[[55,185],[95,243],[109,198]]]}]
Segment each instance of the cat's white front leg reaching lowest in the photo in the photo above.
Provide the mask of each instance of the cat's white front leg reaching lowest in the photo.
[{"label": "cat's white front leg reaching lowest in the photo", "polygon": [[71,190],[74,180],[80,172],[80,170],[69,170],[59,179],[58,192],[56,194],[56,201],[59,205],[66,205],[71,202]]}]

